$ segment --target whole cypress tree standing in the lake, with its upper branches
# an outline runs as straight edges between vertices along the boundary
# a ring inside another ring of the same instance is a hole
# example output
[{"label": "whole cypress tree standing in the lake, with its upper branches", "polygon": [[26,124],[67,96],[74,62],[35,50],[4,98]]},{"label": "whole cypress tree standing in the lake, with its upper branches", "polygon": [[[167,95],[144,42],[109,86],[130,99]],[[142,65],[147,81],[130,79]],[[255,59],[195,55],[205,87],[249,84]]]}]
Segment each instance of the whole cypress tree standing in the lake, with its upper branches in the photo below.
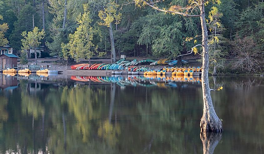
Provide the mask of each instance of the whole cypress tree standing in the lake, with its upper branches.
[{"label": "whole cypress tree standing in the lake, with its upper branches", "polygon": [[[182,15],[184,17],[200,17],[201,28],[202,28],[202,44],[198,44],[196,46],[202,46],[202,94],[203,94],[203,115],[201,118],[201,133],[206,135],[206,132],[222,132],[222,122],[217,116],[211,98],[211,89],[209,86],[208,80],[208,70],[209,70],[209,48],[208,48],[208,32],[207,25],[205,19],[205,5],[208,5],[210,2],[221,4],[220,0],[190,0],[188,1],[188,5],[186,7],[181,7],[179,5],[172,5],[169,9],[160,9],[157,6],[157,0],[155,2],[145,1],[145,0],[134,0],[133,1],[137,7],[149,6],[155,10],[169,13],[172,15]],[[200,14],[195,14],[195,12],[200,12]],[[193,39],[193,38],[191,38]],[[197,48],[193,47],[193,49],[197,50]]]}]

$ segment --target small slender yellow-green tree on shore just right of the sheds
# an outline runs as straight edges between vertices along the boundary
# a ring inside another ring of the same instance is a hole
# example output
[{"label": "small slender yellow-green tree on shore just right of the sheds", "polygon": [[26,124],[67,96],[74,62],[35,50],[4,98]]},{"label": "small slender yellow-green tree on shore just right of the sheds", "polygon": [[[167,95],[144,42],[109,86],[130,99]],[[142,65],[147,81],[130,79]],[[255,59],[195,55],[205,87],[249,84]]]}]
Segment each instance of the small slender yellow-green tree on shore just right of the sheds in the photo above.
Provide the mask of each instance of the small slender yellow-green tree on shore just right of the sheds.
[{"label": "small slender yellow-green tree on shore just right of the sheds", "polygon": [[21,40],[23,47],[22,50],[30,50],[30,48],[34,49],[35,53],[35,63],[37,65],[37,51],[36,48],[39,47],[40,41],[44,38],[45,32],[44,29],[39,31],[38,27],[34,27],[34,29],[30,32],[22,32],[21,34],[24,39]]}]

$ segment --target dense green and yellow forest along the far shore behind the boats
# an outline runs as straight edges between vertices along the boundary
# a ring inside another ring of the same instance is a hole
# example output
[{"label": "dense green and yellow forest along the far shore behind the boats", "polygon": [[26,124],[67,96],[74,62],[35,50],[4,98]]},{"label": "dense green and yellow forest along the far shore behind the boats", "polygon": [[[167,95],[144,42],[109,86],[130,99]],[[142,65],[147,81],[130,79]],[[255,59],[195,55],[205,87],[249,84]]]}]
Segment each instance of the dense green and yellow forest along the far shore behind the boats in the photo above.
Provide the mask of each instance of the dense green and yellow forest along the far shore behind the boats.
[{"label": "dense green and yellow forest along the far shore behind the boats", "polygon": [[[36,43],[30,47],[45,48],[41,57],[59,55],[73,60],[110,57],[111,53],[114,59],[120,54],[176,59],[200,44],[198,17],[138,7],[134,2],[0,0],[0,45],[8,42],[26,57],[23,51],[35,35]],[[176,4],[188,6],[188,1],[157,1],[155,6],[170,9]],[[212,65],[221,69],[229,61],[232,68],[259,70],[264,56],[263,0],[222,0],[205,9]],[[197,47],[193,52],[199,58],[201,51]]]}]

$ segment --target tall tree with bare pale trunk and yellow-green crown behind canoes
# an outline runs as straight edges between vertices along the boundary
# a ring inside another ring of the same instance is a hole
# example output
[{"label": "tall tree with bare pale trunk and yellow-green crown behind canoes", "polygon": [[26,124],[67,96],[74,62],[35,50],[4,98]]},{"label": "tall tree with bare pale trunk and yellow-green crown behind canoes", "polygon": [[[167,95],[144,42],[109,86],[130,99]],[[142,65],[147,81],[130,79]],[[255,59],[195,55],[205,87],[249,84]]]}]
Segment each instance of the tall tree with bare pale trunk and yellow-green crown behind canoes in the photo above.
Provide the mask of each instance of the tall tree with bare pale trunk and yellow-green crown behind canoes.
[{"label": "tall tree with bare pale trunk and yellow-green crown behind canoes", "polygon": [[115,41],[113,36],[112,22],[116,21],[115,24],[119,24],[122,14],[117,12],[117,5],[114,1],[109,2],[104,10],[99,11],[98,16],[103,22],[99,22],[99,25],[107,26],[109,28],[110,40],[111,40],[111,52],[112,52],[112,61],[116,61],[116,49]]}]

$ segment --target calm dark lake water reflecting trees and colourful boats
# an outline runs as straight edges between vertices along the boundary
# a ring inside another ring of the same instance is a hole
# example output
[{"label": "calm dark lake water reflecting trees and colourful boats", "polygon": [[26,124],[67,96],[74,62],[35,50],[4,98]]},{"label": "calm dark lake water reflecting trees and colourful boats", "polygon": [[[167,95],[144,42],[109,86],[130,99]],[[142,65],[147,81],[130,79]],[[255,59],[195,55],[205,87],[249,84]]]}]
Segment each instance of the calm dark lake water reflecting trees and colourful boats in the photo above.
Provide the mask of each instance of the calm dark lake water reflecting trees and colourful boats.
[{"label": "calm dark lake water reflecting trees and colourful boats", "polygon": [[[210,84],[214,153],[264,153],[264,77]],[[201,117],[199,77],[0,74],[0,153],[203,153]]]}]

